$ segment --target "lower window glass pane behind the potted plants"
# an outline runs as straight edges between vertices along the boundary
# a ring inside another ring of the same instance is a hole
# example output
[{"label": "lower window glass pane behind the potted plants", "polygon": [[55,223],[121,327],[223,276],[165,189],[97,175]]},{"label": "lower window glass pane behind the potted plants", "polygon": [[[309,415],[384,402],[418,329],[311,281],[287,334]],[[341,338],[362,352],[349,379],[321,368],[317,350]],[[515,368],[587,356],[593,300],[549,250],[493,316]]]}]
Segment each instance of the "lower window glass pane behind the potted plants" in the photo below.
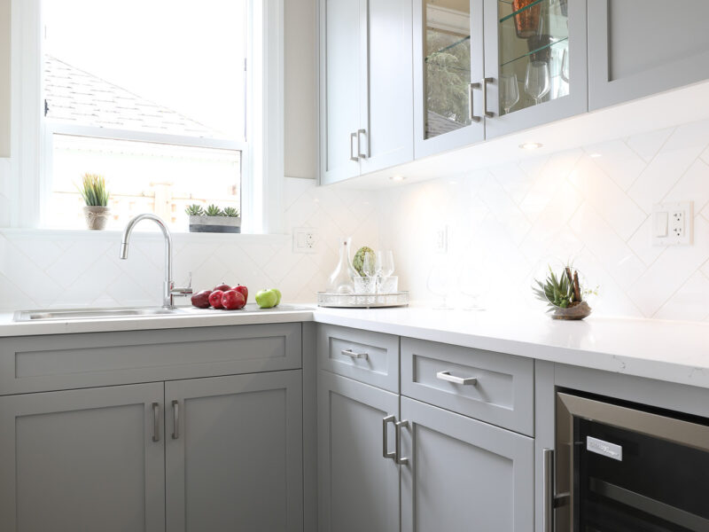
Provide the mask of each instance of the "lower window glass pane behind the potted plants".
[{"label": "lower window glass pane behind the potted plants", "polygon": [[105,177],[111,194],[106,229],[122,229],[141,213],[155,213],[177,231],[188,230],[185,207],[212,203],[240,209],[241,153],[90,137],[52,137],[52,194],[46,225],[82,229],[85,173]]}]

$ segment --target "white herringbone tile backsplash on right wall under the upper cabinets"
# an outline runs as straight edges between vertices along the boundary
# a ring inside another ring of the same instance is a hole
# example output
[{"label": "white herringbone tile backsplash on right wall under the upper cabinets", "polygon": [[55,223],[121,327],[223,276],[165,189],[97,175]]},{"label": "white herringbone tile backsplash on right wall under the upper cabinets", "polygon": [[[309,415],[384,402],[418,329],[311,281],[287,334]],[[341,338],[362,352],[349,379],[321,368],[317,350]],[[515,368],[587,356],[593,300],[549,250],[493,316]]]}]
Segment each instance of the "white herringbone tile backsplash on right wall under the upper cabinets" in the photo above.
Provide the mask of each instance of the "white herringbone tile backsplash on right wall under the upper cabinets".
[{"label": "white herringbone tile backsplash on right wall under the upper cabinets", "polygon": [[[693,246],[651,244],[652,205],[671,200],[694,202]],[[415,300],[432,299],[436,266],[479,279],[488,307],[540,309],[533,278],[573,260],[599,286],[597,314],[709,318],[709,121],[401,186],[379,213]],[[443,225],[448,253],[435,254]]]}]

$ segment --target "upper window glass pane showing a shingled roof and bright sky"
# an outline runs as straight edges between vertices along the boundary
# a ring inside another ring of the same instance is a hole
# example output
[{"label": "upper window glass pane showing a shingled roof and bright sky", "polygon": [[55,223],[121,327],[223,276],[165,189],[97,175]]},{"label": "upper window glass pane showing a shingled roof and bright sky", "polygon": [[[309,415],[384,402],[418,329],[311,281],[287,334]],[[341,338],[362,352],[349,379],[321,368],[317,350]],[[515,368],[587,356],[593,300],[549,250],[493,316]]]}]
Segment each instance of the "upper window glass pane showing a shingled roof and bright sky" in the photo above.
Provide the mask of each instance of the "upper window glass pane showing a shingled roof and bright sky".
[{"label": "upper window glass pane showing a shingled roof and bright sky", "polygon": [[245,0],[44,0],[47,116],[244,138]]}]

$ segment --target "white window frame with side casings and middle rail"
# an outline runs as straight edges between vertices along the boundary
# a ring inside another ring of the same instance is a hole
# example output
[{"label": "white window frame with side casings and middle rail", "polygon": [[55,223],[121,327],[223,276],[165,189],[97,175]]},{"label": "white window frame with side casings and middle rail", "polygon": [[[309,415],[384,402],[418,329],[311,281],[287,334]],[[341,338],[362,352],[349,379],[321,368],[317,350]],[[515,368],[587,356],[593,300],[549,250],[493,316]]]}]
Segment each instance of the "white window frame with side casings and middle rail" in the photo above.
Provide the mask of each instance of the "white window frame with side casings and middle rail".
[{"label": "white window frame with side casings and middle rail", "polygon": [[[12,153],[10,224],[53,231],[44,226],[51,195],[54,134],[241,151],[242,231],[280,233],[284,183],[284,0],[248,0],[245,47],[245,141],[182,137],[67,124],[43,113],[42,2],[12,0]],[[180,232],[180,231],[174,231]],[[233,235],[231,235],[233,236]]]}]

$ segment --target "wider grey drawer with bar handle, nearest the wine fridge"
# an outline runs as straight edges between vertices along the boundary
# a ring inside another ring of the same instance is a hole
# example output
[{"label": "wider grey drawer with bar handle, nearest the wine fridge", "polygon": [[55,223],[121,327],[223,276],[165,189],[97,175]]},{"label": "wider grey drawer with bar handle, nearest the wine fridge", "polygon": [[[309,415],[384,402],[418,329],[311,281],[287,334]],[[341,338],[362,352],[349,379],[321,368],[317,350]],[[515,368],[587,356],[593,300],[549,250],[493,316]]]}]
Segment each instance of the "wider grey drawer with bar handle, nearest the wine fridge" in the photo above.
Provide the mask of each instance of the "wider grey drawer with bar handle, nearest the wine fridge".
[{"label": "wider grey drawer with bar handle, nearest the wine fridge", "polygon": [[534,435],[534,361],[401,339],[401,395]]}]

